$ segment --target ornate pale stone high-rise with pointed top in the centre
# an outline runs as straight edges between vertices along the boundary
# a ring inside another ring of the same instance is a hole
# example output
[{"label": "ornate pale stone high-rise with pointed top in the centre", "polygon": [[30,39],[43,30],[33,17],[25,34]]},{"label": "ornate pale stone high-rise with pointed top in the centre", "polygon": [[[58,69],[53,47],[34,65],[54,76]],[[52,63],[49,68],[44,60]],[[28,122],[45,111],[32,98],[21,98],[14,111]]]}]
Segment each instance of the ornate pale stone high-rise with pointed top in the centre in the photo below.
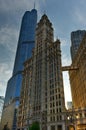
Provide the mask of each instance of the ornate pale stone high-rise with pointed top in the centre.
[{"label": "ornate pale stone high-rise with pointed top in the centre", "polygon": [[46,14],[37,24],[35,48],[24,64],[17,129],[38,121],[41,130],[65,130],[60,41]]}]

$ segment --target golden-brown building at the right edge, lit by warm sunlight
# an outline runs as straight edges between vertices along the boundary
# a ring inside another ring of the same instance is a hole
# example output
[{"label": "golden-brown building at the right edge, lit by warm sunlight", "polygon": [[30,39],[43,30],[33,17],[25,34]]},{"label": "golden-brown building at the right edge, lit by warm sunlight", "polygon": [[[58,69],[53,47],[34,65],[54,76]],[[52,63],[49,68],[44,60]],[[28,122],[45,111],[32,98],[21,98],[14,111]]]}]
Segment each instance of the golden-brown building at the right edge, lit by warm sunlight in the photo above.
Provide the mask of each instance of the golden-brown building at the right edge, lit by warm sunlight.
[{"label": "golden-brown building at the right edge, lit by warm sunlight", "polygon": [[77,50],[71,66],[77,69],[69,71],[72,101],[75,109],[85,109],[84,115],[80,117],[85,121],[79,120],[79,129],[86,129],[86,34]]}]

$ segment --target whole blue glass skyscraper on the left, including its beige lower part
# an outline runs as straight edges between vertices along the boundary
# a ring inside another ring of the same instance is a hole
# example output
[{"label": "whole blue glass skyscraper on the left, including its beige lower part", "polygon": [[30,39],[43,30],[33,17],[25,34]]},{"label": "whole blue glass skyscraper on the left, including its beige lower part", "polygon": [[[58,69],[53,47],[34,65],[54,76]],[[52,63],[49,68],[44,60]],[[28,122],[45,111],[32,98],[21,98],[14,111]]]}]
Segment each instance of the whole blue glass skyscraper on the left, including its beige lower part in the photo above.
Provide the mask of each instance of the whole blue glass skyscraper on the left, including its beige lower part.
[{"label": "whole blue glass skyscraper on the left, including its beige lower part", "polygon": [[2,115],[2,127],[7,123],[8,119],[11,119],[8,120],[11,130],[16,129],[16,112],[19,105],[23,64],[32,55],[32,49],[35,43],[36,24],[36,9],[26,11],[22,19],[13,74],[7,84],[5,104]]}]

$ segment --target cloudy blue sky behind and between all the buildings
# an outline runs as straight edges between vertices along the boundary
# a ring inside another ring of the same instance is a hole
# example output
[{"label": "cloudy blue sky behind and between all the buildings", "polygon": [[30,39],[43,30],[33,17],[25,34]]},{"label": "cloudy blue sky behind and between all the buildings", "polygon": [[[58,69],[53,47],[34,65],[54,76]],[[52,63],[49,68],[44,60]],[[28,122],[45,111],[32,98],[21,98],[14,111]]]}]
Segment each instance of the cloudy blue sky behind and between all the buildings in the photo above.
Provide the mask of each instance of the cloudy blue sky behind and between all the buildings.
[{"label": "cloudy blue sky behind and between all the buildings", "polygon": [[[12,75],[21,19],[26,10],[46,12],[53,23],[55,39],[61,41],[62,64],[70,65],[70,33],[86,28],[86,0],[0,0],[0,95],[5,95]],[[66,101],[71,100],[68,73],[63,73]]]}]

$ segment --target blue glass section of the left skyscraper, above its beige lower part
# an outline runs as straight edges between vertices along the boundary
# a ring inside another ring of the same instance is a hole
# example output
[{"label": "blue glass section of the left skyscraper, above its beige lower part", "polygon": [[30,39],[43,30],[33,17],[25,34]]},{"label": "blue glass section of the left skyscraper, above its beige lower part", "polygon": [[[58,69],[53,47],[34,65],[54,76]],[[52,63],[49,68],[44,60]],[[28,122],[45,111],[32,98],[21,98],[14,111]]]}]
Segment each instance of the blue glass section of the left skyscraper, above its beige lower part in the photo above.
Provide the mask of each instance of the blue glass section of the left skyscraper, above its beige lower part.
[{"label": "blue glass section of the left skyscraper, above its beige lower part", "polygon": [[5,104],[9,103],[10,99],[20,96],[23,64],[32,56],[32,49],[35,45],[36,24],[37,11],[35,9],[31,12],[26,11],[22,19],[13,75],[7,84]]}]

